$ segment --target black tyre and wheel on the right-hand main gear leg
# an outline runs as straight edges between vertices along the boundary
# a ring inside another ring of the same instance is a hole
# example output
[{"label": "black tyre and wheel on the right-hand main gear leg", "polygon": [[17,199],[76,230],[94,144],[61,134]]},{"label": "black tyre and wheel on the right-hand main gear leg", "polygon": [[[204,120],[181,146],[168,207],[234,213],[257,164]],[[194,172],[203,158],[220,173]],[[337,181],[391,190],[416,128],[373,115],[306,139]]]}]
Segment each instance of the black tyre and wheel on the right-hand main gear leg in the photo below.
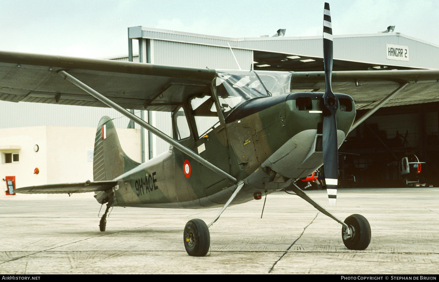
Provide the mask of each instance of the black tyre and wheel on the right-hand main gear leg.
[{"label": "black tyre and wheel on the right-hand main gear leg", "polygon": [[343,243],[349,250],[365,250],[371,243],[371,225],[365,217],[360,214],[349,215],[345,223],[352,228],[353,237],[345,238],[345,227],[342,228]]}]

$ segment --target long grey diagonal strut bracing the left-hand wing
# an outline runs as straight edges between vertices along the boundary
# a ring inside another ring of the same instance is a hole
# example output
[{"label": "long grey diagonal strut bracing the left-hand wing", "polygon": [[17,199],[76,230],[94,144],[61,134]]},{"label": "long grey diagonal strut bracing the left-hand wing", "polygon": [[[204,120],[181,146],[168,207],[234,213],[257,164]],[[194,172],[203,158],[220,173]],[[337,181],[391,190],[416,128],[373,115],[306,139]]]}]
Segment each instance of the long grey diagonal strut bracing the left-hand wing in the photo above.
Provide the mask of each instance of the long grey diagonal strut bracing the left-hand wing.
[{"label": "long grey diagonal strut bracing the left-hand wing", "polygon": [[122,108],[118,104],[114,103],[112,100],[108,99],[101,93],[98,93],[96,90],[92,89],[90,86],[87,86],[85,83],[81,82],[79,79],[76,79],[72,75],[68,74],[65,71],[59,71],[59,75],[67,79],[68,81],[72,82],[74,85],[78,86],[79,88],[83,89],[85,92],[89,93],[91,96],[94,96],[96,99],[100,100],[102,103],[108,105],[109,107],[112,107],[119,113],[125,115],[130,120],[136,122],[138,125],[144,127],[148,131],[152,132],[159,138],[163,139],[165,142],[171,144],[178,150],[182,151],[183,153],[187,154],[191,158],[193,158],[195,161],[198,161],[200,164],[205,165],[207,168],[211,169],[212,171],[216,172],[218,175],[220,175],[223,178],[229,179],[234,184],[237,183],[236,178],[234,178],[232,175],[229,175],[227,172],[217,168],[213,164],[209,163],[209,161],[205,160],[203,157],[192,151],[191,149],[187,148],[186,146],[181,145],[176,140],[172,139],[171,137],[167,136],[165,133],[161,132],[154,126],[150,125],[148,122],[144,121],[143,119],[137,117],[136,115],[130,113],[130,111],[127,111],[126,109]]}]

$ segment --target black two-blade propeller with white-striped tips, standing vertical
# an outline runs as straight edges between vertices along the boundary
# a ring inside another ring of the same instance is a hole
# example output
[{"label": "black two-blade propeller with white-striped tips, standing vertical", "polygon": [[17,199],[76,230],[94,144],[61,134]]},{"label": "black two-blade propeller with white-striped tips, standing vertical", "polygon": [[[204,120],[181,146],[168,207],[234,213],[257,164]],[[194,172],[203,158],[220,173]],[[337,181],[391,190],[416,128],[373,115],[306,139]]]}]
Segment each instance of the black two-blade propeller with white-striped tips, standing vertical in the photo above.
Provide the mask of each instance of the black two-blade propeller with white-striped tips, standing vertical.
[{"label": "black two-blade propeller with white-striped tips, standing vertical", "polygon": [[332,25],[329,4],[325,3],[323,16],[323,60],[325,93],[323,95],[323,165],[329,204],[335,206],[338,182],[337,120],[338,99],[332,92]]}]

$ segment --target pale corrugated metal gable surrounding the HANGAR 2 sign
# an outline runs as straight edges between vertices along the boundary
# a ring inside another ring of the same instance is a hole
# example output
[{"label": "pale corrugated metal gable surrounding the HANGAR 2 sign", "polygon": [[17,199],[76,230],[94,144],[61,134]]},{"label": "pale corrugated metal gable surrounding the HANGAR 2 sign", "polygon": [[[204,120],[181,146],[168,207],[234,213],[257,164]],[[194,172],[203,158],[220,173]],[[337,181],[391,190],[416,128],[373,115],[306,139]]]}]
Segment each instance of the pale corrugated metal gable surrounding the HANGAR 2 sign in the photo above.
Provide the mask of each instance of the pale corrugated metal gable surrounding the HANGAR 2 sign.
[{"label": "pale corrugated metal gable surrounding the HANGAR 2 sign", "polygon": [[[254,50],[323,57],[323,43],[320,37],[255,38],[234,44]],[[387,59],[386,44],[408,46],[409,61]],[[439,46],[397,33],[334,36],[334,58],[413,68],[439,68]]]}]

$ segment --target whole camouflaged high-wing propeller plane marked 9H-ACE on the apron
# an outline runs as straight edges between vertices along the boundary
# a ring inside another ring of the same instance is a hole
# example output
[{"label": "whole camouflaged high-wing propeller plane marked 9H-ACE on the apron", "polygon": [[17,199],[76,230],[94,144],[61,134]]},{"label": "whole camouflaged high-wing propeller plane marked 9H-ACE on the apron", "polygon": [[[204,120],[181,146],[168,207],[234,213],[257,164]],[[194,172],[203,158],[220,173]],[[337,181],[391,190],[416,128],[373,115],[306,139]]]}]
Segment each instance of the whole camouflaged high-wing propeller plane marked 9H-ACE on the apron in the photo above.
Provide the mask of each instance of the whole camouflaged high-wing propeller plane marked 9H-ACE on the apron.
[{"label": "whole camouflaged high-wing propeller plane marked 9H-ACE on the apron", "polygon": [[[168,152],[139,164],[123,153],[111,119],[104,117],[97,127],[93,182],[14,192],[94,191],[97,201],[107,204],[101,231],[109,207],[114,206],[223,207],[209,225],[193,219],[184,228],[187,253],[205,256],[209,227],[229,204],[289,188],[342,224],[348,249],[366,249],[371,240],[366,218],[353,214],[343,222],[294,183],[323,163],[329,201],[335,205],[338,147],[345,136],[403,88],[402,100],[420,103],[436,96],[439,71],[332,72],[329,4],[324,8],[323,34],[324,72],[223,71],[0,52],[1,100],[106,104],[172,145]],[[354,100],[332,92],[332,77],[337,90],[352,95],[357,104],[375,107],[353,124]],[[291,93],[291,89],[325,90]],[[383,99],[383,93],[390,94]],[[172,138],[127,108],[172,112]]]}]

